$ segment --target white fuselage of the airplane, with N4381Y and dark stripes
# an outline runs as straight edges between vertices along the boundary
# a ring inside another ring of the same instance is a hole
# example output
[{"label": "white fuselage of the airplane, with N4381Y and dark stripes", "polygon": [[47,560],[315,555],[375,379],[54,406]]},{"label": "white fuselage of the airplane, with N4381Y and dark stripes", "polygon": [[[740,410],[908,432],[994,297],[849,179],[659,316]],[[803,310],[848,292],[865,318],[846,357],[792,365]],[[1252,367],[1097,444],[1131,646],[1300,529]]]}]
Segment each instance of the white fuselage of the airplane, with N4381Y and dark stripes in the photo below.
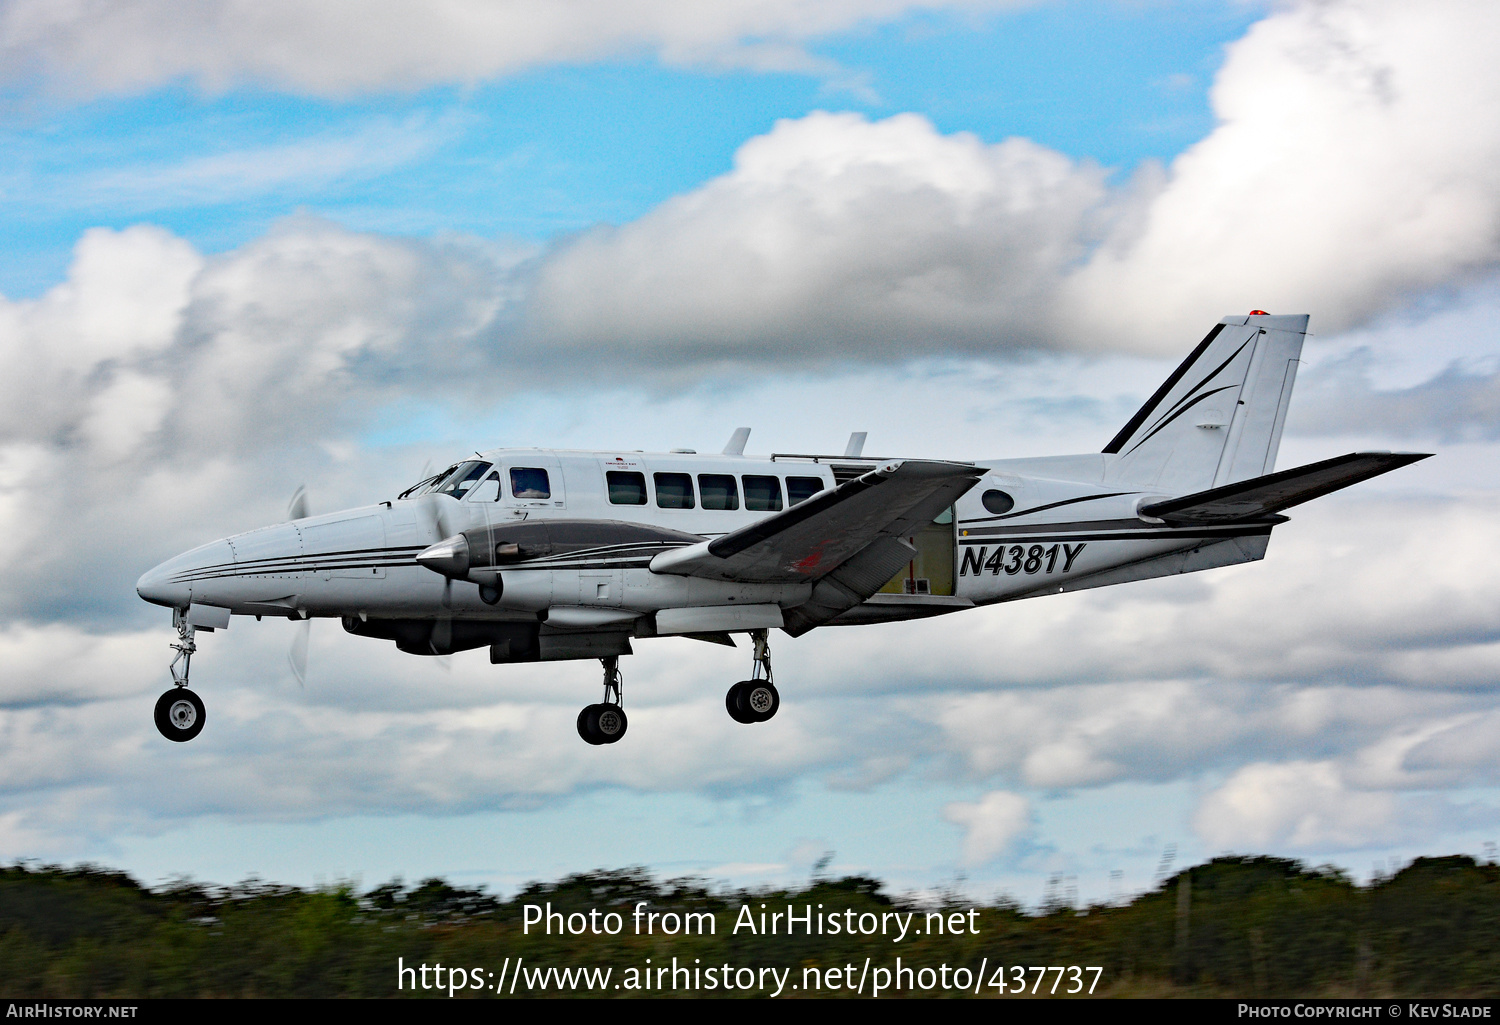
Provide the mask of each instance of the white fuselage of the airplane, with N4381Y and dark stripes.
[{"label": "white fuselage of the airplane, with N4381Y and dark stripes", "polygon": [[[986,476],[948,513],[906,539],[915,549],[912,561],[834,623],[927,617],[1095,585],[1090,581],[1116,582],[1101,575],[1230,539],[1238,539],[1230,558],[1214,564],[1264,551],[1269,525],[1180,530],[1149,522],[1136,510],[1161,492],[1108,486],[1108,459],[986,464]],[[402,636],[390,635],[400,629],[382,623],[458,623],[464,636],[450,626],[447,645],[438,645],[448,648],[498,636],[472,629],[465,635],[464,623],[550,621],[573,632],[650,636],[657,632],[651,617],[666,611],[784,609],[806,602],[810,584],[675,576],[652,572],[651,561],[792,509],[882,462],[496,449],[454,464],[400,498],[195,548],[146,573],[136,590],[178,609],[342,617],[351,632],[398,644]],[[456,536],[483,539],[471,546],[486,549],[472,579],[444,576],[417,561]],[[740,620],[722,623],[735,629]],[[402,647],[434,648],[426,636]]]}]

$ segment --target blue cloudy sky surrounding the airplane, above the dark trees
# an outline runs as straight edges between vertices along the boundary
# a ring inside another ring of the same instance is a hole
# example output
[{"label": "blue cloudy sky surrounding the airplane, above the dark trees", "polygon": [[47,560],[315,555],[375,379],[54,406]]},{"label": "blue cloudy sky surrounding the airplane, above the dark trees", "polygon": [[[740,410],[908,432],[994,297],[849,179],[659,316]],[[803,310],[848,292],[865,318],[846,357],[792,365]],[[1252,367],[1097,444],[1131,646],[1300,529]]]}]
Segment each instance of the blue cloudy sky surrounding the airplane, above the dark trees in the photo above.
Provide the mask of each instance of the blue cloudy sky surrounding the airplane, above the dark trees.
[{"label": "blue cloudy sky surrounding the airplane, above the dark trees", "polygon": [[[1036,903],[1500,839],[1500,9],[0,0],[0,858],[147,884],[645,866]],[[496,446],[1096,452],[1306,312],[1264,561],[596,663],[200,636],[194,545]]]}]

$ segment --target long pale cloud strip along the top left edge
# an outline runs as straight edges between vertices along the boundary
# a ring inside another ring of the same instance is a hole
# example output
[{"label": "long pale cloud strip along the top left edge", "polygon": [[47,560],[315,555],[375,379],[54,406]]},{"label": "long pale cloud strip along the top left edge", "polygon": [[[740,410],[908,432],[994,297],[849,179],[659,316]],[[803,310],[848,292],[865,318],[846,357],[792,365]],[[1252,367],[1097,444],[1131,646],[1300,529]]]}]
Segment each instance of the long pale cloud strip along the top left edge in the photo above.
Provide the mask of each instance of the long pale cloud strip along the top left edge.
[{"label": "long pale cloud strip along the top left edge", "polygon": [[135,92],[178,78],[314,95],[476,84],[530,68],[650,54],[668,65],[840,75],[804,44],[916,11],[1004,0],[9,0],[0,54],[63,92]]}]

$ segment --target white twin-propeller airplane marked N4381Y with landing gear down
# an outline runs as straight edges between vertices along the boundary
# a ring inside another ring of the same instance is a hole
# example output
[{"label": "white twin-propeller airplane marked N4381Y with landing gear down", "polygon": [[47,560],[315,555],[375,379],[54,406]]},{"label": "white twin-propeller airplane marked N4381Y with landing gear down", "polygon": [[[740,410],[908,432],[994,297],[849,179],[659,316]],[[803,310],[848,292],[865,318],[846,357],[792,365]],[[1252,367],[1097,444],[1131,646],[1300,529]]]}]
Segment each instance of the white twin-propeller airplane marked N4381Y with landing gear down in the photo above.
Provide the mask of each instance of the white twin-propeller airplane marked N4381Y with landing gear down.
[{"label": "white twin-propeller airplane marked N4381Y with landing gear down", "polygon": [[[339,617],[411,654],[598,659],[590,744],[624,737],[620,657],[663,636],[752,641],[740,723],[780,708],[770,630],[945,615],[1264,557],[1282,510],[1431,453],[1354,452],[1275,471],[1306,315],[1222,318],[1102,452],[956,462],[843,455],[494,449],[392,500],[194,548],[141,576],[172,609],[156,726],[196,737],[198,630],[234,615]],[[302,506],[302,507],[298,507]],[[303,635],[303,659],[306,635]],[[297,662],[294,657],[294,668]],[[298,669],[300,675],[300,669]]]}]

